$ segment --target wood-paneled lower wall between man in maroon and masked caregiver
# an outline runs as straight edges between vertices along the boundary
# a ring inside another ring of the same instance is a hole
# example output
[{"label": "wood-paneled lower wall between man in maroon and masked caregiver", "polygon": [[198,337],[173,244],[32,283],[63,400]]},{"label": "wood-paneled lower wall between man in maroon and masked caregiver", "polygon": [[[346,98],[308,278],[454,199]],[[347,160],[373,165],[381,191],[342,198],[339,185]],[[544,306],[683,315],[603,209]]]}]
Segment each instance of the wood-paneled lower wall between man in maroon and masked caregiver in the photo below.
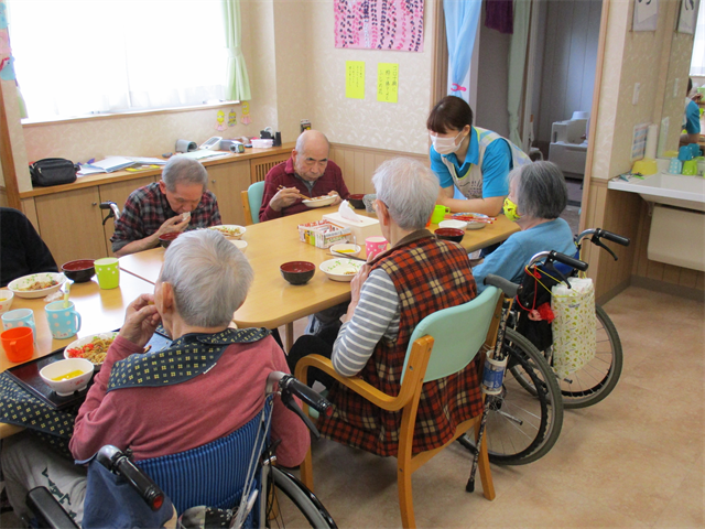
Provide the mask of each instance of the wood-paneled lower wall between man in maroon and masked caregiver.
[{"label": "wood-paneled lower wall between man in maroon and masked caregiver", "polygon": [[386,160],[405,156],[419,160],[424,165],[430,164],[427,155],[337,143],[330,144],[329,155],[330,160],[340,166],[348,191],[350,193],[362,194],[375,193],[375,186],[372,186],[372,174],[375,174],[375,170],[377,170],[377,168],[379,168],[379,165]]}]

